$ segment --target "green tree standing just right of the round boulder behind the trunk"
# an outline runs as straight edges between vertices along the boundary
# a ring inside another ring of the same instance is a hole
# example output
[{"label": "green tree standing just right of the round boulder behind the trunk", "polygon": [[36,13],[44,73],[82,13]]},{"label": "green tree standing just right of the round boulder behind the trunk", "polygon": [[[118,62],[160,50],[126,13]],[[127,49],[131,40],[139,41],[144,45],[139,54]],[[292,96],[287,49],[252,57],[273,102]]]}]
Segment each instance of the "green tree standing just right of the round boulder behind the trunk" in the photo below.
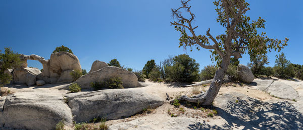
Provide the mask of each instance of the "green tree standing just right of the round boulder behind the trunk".
[{"label": "green tree standing just right of the round boulder behind the trunk", "polygon": [[255,77],[264,75],[265,64],[268,64],[268,58],[265,54],[250,57],[250,63],[247,66],[250,68]]}]

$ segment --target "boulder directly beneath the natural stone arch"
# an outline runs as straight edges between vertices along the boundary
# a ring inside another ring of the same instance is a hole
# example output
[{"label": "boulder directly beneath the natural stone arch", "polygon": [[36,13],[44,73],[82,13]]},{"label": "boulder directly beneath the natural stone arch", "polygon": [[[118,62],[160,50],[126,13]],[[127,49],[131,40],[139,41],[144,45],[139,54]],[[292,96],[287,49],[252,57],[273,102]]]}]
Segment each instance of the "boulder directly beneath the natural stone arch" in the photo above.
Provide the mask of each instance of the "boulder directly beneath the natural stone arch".
[{"label": "boulder directly beneath the natural stone arch", "polygon": [[37,68],[16,68],[13,71],[14,82],[32,86],[36,83],[36,76],[40,73],[40,70]]}]

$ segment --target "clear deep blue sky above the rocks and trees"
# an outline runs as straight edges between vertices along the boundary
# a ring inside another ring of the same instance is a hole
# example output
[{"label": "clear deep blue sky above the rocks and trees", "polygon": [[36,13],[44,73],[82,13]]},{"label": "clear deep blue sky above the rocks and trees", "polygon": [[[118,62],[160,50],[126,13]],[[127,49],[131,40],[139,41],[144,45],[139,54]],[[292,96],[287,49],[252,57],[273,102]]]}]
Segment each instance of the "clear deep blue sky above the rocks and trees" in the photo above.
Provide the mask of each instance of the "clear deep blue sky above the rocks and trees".
[{"label": "clear deep blue sky above the rocks and trees", "polygon": [[[303,64],[303,1],[254,0],[247,15],[252,20],[266,20],[268,36],[289,38],[282,51],[293,63]],[[216,23],[217,14],[212,1],[192,0],[196,15],[196,33],[212,35],[224,32]],[[189,54],[200,69],[211,64],[206,49],[190,52],[179,46],[180,34],[170,26],[171,8],[180,1],[0,1],[0,48],[12,47],[23,54],[37,54],[49,59],[57,46],[65,45],[78,56],[81,67],[90,70],[94,60],[109,62],[117,58],[120,64],[141,70],[147,60],[157,63],[182,53]],[[274,66],[276,52],[269,53],[269,66]],[[244,55],[240,63],[246,64]],[[28,60],[28,66],[42,68],[41,63]]]}]

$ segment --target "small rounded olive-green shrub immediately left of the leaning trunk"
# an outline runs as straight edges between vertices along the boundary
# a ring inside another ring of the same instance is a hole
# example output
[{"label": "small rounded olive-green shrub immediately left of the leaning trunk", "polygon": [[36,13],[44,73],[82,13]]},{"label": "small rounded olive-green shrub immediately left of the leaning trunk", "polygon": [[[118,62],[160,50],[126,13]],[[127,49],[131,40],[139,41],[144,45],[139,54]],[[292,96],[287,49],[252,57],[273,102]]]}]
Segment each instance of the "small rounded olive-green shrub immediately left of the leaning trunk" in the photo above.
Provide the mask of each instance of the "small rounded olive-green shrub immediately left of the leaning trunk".
[{"label": "small rounded olive-green shrub immediately left of the leaning trunk", "polygon": [[215,77],[217,67],[215,65],[208,65],[204,67],[204,69],[201,70],[200,72],[200,80],[211,80]]}]

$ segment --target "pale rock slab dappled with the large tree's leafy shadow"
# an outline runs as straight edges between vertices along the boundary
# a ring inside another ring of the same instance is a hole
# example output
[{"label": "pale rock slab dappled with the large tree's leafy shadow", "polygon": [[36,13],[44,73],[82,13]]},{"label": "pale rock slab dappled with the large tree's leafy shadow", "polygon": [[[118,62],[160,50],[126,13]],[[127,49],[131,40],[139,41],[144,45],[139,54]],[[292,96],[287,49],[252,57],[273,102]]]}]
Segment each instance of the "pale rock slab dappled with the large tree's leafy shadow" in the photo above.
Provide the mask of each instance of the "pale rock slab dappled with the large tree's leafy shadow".
[{"label": "pale rock slab dappled with the large tree's leafy shadow", "polygon": [[[302,129],[303,115],[288,101],[263,102],[241,93],[227,93],[215,98],[218,114],[227,121],[224,129],[234,125],[241,129]],[[204,127],[201,124],[200,127]]]}]

